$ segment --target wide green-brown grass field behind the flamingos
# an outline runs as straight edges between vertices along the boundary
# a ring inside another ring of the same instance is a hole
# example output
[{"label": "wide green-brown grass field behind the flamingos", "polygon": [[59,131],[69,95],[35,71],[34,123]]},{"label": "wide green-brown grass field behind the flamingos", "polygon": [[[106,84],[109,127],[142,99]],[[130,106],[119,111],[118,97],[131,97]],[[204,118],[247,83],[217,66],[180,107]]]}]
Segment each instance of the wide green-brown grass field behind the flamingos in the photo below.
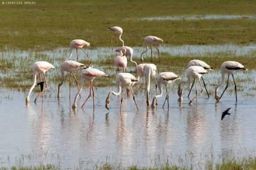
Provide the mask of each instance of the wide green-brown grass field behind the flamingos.
[{"label": "wide green-brown grass field behind the flamingos", "polygon": [[[23,1],[23,0],[22,0]],[[125,44],[143,45],[156,35],[165,44],[256,43],[256,19],[147,21],[149,16],[255,15],[253,0],[182,1],[36,1],[36,5],[0,5],[0,48],[54,49],[85,39],[93,47],[110,46],[108,27],[121,26]]]}]

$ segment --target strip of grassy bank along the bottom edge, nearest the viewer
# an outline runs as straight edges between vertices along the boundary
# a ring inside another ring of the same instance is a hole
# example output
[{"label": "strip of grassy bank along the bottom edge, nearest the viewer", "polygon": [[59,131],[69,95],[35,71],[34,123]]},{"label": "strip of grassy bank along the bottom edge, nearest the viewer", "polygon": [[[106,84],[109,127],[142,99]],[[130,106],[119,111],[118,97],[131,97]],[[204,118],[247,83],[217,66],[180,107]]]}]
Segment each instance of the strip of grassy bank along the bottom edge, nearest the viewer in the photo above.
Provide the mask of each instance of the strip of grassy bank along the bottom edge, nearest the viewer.
[{"label": "strip of grassy bank along the bottom edge, nearest the viewer", "polygon": [[[13,166],[11,168],[5,168],[2,167],[0,170],[46,170],[46,169],[63,169],[60,165],[52,165],[52,164],[47,164],[47,165],[39,165],[39,166]],[[70,168],[69,168],[70,169]],[[244,157],[243,159],[236,159],[233,157],[233,159],[230,158],[224,158],[221,161],[218,161],[217,163],[213,163],[212,160],[208,160],[206,165],[201,166],[201,165],[180,165],[180,164],[172,164],[170,162],[166,162],[163,164],[158,164],[154,165],[153,167],[140,167],[139,165],[130,165],[129,167],[123,167],[121,164],[111,164],[111,163],[95,163],[93,167],[91,168],[73,168],[73,169],[105,169],[105,170],[111,170],[111,169],[127,169],[127,170],[157,170],[157,169],[162,169],[162,170],[179,170],[179,169],[206,169],[206,170],[230,170],[230,169],[256,169],[256,157]]]}]

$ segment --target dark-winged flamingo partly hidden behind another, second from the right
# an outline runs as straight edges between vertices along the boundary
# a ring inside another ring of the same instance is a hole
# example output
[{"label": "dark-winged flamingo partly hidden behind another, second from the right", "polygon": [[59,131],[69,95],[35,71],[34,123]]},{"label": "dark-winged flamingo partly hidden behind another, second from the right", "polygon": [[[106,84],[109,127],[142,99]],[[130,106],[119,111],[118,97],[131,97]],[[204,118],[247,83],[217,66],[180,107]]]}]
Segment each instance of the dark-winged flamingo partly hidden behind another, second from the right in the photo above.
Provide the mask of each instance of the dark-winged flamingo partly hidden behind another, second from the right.
[{"label": "dark-winged flamingo partly hidden behind another, second from the right", "polygon": [[[202,68],[206,69],[206,70],[209,70],[209,71],[213,71],[213,68],[210,67],[210,65],[206,64],[205,61],[201,61],[201,60],[190,60],[189,63],[187,64],[187,68],[191,67],[191,66],[201,66]],[[206,93],[207,93],[207,96],[208,98],[210,97],[209,96],[209,93],[206,89],[206,84],[205,84],[205,80],[203,80],[203,76],[201,77],[202,78],[202,81],[203,81],[203,86],[205,86],[205,90],[206,90]],[[190,88],[190,91],[189,91],[189,94],[187,95],[187,97],[189,97],[190,93],[191,93],[191,90],[194,86],[194,83],[195,83],[195,80],[193,81],[193,84]],[[201,92],[203,91],[203,89],[201,89]]]}]

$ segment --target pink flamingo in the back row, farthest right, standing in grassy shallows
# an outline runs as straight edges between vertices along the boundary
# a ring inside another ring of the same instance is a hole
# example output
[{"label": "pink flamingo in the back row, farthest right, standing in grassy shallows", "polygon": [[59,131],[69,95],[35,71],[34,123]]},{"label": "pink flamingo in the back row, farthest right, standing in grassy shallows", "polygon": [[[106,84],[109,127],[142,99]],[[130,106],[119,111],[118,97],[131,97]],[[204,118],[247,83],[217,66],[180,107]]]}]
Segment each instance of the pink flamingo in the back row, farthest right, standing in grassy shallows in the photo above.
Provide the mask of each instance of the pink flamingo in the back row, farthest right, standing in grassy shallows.
[{"label": "pink flamingo in the back row, farthest right, standing in grassy shallows", "polygon": [[143,53],[146,53],[147,52],[147,49],[149,49],[149,46],[150,46],[150,49],[151,49],[151,59],[150,61],[152,62],[152,47],[153,45],[155,46],[155,48],[157,48],[157,52],[158,52],[158,58],[159,58],[159,62],[160,62],[160,54],[159,54],[159,48],[157,47],[157,44],[160,43],[160,42],[163,42],[163,39],[161,38],[158,38],[157,36],[146,36],[144,38],[144,44],[146,45],[146,51],[143,51],[141,53],[141,62],[143,63]]}]

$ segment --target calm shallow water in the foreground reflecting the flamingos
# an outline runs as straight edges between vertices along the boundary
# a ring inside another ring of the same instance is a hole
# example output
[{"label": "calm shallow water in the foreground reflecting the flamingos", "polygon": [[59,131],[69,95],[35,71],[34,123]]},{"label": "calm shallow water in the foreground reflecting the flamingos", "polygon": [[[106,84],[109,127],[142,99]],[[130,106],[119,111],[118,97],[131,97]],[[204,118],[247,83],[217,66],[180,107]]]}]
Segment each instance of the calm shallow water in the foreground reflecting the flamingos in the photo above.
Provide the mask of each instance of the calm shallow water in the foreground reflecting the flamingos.
[{"label": "calm shallow water in the foreground reflecting the flamingos", "polygon": [[[253,50],[239,48],[242,52]],[[57,59],[61,56],[56,51],[45,53]],[[26,52],[23,55],[26,56]],[[147,108],[143,87],[135,96],[138,111],[133,98],[126,94],[121,111],[120,98],[115,96],[111,96],[110,110],[105,109],[107,94],[116,90],[115,86],[95,87],[95,110],[92,99],[81,109],[89,94],[87,83],[75,110],[71,106],[77,89],[71,88],[69,96],[67,83],[61,89],[61,99],[57,99],[57,84],[50,82],[43,101],[39,98],[37,103],[32,102],[36,94],[33,92],[29,105],[25,104],[27,92],[1,88],[0,167],[51,163],[62,168],[82,168],[105,162],[149,167],[166,160],[178,164],[198,163],[211,154],[217,159],[230,151],[241,156],[255,154],[255,76],[254,70],[235,74],[238,102],[235,102],[232,81],[221,101],[215,102],[214,87],[221,77],[218,70],[205,76],[210,98],[205,92],[200,93],[193,105],[188,104],[187,91],[183,94],[183,103],[178,102],[178,81],[174,82],[169,86],[169,109],[167,105],[162,108],[165,92],[155,109]],[[138,85],[134,86],[137,88]],[[224,88],[222,85],[219,91]],[[194,93],[193,90],[191,97]],[[151,99],[154,95],[152,84]],[[229,107],[231,115],[221,121],[222,112]],[[185,157],[182,163],[181,157]]]}]

